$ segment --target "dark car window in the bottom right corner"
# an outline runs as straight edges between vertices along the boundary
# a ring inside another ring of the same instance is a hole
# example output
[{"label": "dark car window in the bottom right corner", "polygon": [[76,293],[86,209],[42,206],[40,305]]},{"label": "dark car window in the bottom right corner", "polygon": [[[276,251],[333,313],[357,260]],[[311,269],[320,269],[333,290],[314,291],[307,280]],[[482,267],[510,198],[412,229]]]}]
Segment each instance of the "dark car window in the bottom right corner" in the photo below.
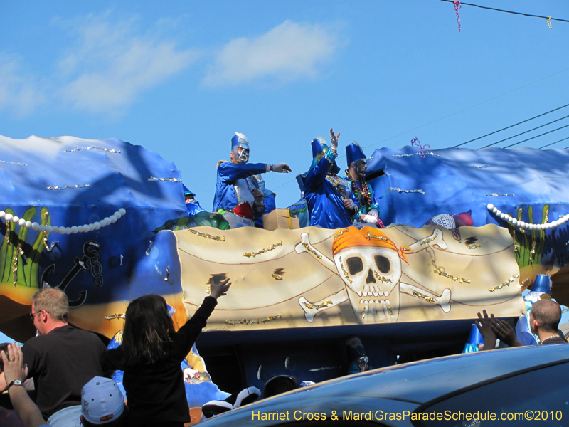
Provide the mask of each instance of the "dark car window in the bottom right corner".
[{"label": "dark car window in the bottom right corner", "polygon": [[569,363],[465,391],[413,414],[415,426],[569,426]]}]

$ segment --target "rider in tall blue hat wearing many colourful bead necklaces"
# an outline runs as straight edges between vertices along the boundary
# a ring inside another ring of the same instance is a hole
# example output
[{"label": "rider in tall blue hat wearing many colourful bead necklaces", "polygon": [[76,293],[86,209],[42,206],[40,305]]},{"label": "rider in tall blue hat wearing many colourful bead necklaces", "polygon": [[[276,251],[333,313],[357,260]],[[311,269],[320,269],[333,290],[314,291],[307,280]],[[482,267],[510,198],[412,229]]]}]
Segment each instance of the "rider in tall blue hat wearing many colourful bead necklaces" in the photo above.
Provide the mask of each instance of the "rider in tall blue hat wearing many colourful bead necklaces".
[{"label": "rider in tall blue hat wearing many colourful bead necklaces", "polygon": [[346,147],[346,157],[348,159],[346,179],[350,181],[351,191],[356,196],[359,206],[354,219],[362,223],[378,225],[379,205],[373,196],[373,189],[364,178],[368,169],[366,154],[363,154],[359,144],[354,142]]}]

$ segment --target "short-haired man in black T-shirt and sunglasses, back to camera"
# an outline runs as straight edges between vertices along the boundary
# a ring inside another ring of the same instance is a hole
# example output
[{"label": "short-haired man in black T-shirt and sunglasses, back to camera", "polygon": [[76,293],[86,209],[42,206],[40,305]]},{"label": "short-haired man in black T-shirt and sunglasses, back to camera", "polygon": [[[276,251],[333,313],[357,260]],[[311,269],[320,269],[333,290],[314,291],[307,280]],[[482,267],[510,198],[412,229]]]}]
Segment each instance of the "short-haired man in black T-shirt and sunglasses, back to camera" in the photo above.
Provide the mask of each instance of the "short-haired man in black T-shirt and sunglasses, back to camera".
[{"label": "short-haired man in black T-shirt and sunglasses, back to camera", "polygon": [[[36,386],[36,404],[53,427],[77,426],[81,389],[93,376],[104,376],[100,359],[105,344],[97,335],[68,325],[68,314],[68,298],[62,290],[38,290],[30,313],[38,335],[22,348],[28,378]],[[0,375],[0,391],[8,385]]]}]

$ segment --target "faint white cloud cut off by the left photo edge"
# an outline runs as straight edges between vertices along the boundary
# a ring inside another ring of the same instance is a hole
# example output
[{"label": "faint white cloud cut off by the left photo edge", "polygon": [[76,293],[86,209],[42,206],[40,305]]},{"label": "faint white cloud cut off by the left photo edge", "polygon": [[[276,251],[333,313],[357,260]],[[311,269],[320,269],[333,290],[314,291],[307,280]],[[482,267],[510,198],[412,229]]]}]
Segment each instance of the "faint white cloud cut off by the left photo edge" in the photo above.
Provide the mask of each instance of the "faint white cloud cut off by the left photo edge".
[{"label": "faint white cloud cut off by the left photo edge", "polygon": [[0,110],[23,116],[45,102],[35,78],[23,71],[21,59],[0,53]]}]

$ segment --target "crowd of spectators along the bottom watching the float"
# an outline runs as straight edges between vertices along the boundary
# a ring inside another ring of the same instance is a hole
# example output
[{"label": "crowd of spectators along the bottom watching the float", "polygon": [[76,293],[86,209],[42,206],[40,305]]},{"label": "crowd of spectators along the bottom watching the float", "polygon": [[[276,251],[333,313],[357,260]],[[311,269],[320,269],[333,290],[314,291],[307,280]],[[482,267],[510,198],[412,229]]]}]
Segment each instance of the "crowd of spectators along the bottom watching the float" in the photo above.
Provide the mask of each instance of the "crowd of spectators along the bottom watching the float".
[{"label": "crowd of spectators along the bottom watching the float", "polygon": [[[18,417],[6,417],[4,422],[25,427],[181,427],[191,422],[180,363],[230,285],[228,279],[212,279],[211,294],[177,332],[163,297],[144,295],[133,300],[126,312],[122,345],[110,350],[95,334],[68,325],[64,292],[50,287],[38,290],[30,313],[38,335],[23,348],[0,344],[0,391],[8,391]],[[494,349],[497,339],[509,347],[521,346],[509,322],[486,310],[478,317],[482,350]],[[529,327],[540,344],[567,344],[558,330],[560,318],[556,302],[543,299],[533,304]],[[352,341],[351,347],[361,347],[361,342]],[[363,356],[358,353],[356,359],[366,359],[365,350],[361,352]],[[124,371],[127,404],[110,379],[116,369]],[[293,377],[284,377],[267,381],[265,397],[299,386]],[[33,380],[35,402],[28,396],[26,380],[28,384]],[[238,406],[249,403],[260,394],[257,389],[245,391],[225,402],[211,402],[211,413],[230,410],[236,407],[235,401]]]}]

